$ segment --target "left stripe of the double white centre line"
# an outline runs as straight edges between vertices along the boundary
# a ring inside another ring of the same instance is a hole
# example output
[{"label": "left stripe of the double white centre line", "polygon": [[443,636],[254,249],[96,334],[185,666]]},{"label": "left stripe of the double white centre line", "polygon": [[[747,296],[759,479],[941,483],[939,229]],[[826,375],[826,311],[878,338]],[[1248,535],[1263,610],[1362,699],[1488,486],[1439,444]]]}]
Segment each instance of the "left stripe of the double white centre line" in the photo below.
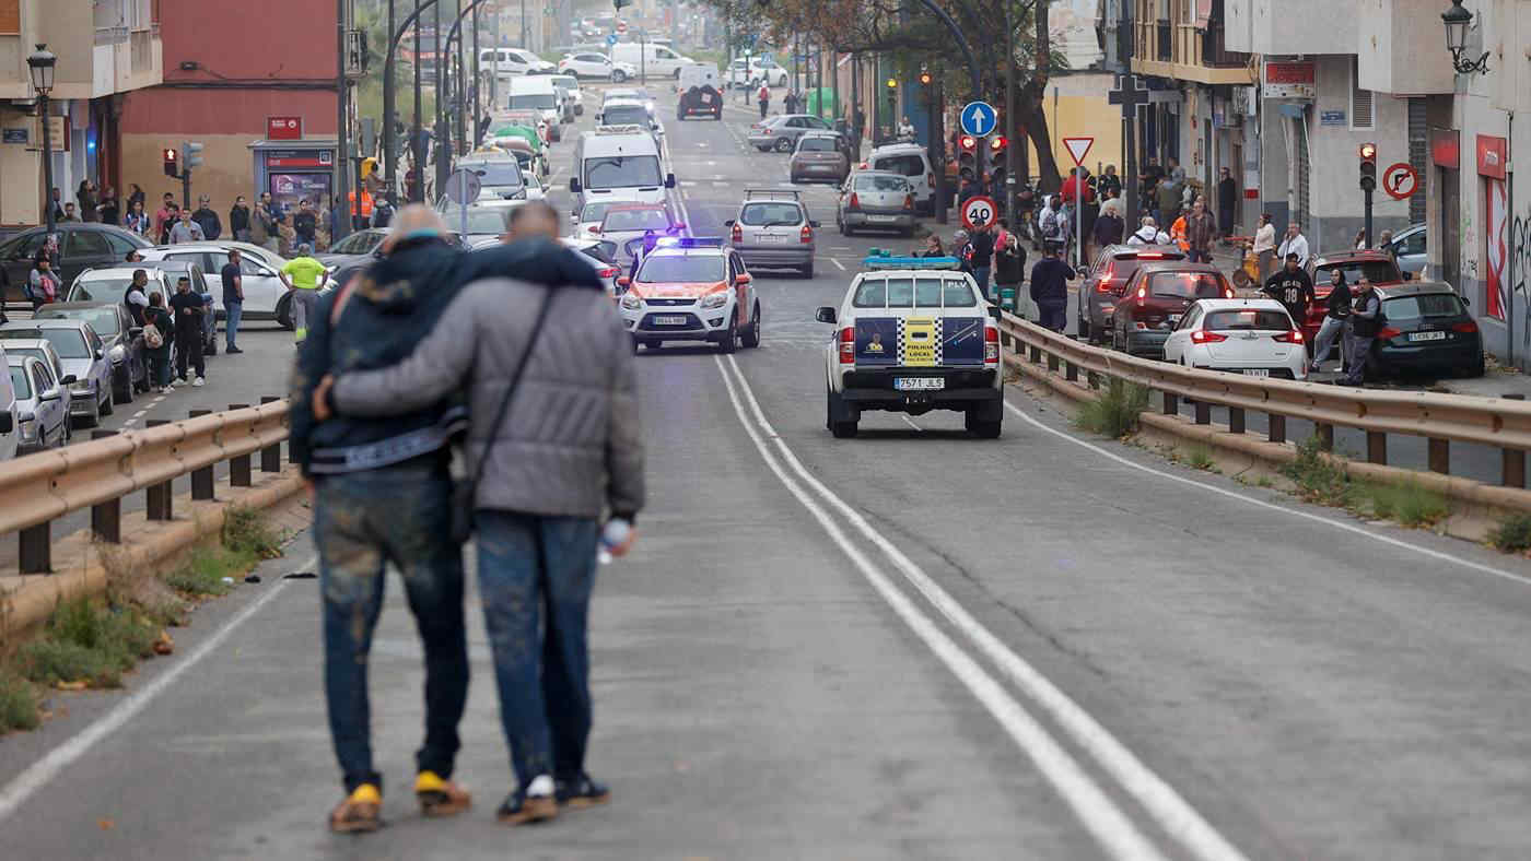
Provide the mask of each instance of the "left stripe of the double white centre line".
[{"label": "left stripe of the double white centre line", "polygon": [[[1101,847],[1112,858],[1145,858],[1145,859],[1160,859],[1164,855],[1142,835],[1142,832],[1133,824],[1130,818],[1116,806],[1115,801],[1090,778],[1090,775],[1079,766],[1073,757],[1052,737],[1047,731],[1032,717],[1017,700],[1004,690],[1004,687],[994,679],[977,661],[974,661],[966,651],[963,651],[949,636],[946,636],[940,627],[914,603],[900,592],[893,581],[890,581],[873,563],[862,554],[841,529],[841,525],[824,511],[824,508],[782,468],[778,456],[766,447],[761,439],[761,431],[770,437],[776,447],[781,450],[781,459],[787,460],[788,465],[795,468],[801,476],[802,465],[796,462],[790,450],[787,450],[776,431],[766,422],[764,416],[759,414],[759,404],[755,402],[753,393],[749,390],[749,382],[744,375],[738,372],[735,362],[733,373],[738,375],[738,384],[735,384],[729,367],[723,362],[720,356],[713,356],[718,362],[718,372],[723,375],[723,382],[729,390],[729,401],[733,404],[735,413],[739,416],[739,422],[744,425],[746,433],[755,443],[755,448],[761,453],[766,465],[772,473],[781,480],[781,483],[798,499],[799,503],[819,521],[819,526],[830,535],[830,538],[841,547],[841,551],[850,557],[851,563],[862,572],[862,577],[871,584],[893,609],[893,612],[903,619],[909,630],[919,636],[926,647],[946,665],[948,670],[957,681],[960,681],[974,697],[998,720],[1000,726],[1015,740],[1021,751],[1030,757],[1036,765],[1038,771],[1058,789],[1058,794],[1073,807],[1075,814],[1079,817],[1081,824],[1095,837]],[[739,402],[738,390],[743,388],[746,398],[755,410],[756,421],[750,422]],[[756,430],[756,424],[759,430]],[[810,483],[811,477],[808,477]],[[825,491],[827,492],[827,491]],[[837,502],[833,497],[827,497],[830,505]]]}]

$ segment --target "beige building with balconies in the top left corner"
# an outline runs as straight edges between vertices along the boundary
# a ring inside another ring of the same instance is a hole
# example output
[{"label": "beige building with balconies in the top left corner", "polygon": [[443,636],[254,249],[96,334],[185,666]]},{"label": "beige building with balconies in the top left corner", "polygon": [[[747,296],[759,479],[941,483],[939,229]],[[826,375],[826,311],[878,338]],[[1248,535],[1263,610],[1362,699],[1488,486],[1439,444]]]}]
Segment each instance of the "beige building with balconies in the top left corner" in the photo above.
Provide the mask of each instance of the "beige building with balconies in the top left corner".
[{"label": "beige building with balconies in the top left corner", "polygon": [[122,190],[124,96],[161,80],[159,3],[150,0],[0,0],[0,226],[43,220],[43,135],[26,57],[57,57],[49,99],[54,187]]}]

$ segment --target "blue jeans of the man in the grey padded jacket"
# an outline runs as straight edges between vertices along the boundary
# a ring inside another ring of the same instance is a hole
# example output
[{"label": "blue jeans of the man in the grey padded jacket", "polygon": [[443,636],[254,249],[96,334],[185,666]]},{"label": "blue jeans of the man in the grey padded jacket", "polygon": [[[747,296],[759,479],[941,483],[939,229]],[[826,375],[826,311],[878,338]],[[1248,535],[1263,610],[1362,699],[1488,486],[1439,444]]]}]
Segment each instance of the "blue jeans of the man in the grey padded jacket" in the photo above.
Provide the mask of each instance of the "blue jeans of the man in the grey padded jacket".
[{"label": "blue jeans of the man in the grey padded jacket", "polygon": [[539,774],[579,777],[591,725],[585,629],[600,525],[485,509],[476,523],[479,595],[510,765],[522,789]]}]

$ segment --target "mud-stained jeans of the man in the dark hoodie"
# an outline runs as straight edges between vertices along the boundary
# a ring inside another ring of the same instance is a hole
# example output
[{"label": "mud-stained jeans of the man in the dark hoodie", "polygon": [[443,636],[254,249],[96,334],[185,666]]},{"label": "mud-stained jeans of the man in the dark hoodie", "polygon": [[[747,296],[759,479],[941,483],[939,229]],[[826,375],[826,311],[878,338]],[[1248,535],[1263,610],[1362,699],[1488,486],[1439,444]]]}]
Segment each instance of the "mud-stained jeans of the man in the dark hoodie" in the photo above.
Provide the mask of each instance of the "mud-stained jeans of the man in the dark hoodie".
[{"label": "mud-stained jeans of the man in the dark hoodie", "polygon": [[346,792],[378,781],[372,766],[367,653],[383,610],[384,563],[404,593],[426,650],[426,742],[419,771],[452,777],[458,722],[468,694],[462,627],[462,547],[450,538],[446,465],[401,463],[323,476],[314,499],[314,543],[325,604],[325,700]]}]

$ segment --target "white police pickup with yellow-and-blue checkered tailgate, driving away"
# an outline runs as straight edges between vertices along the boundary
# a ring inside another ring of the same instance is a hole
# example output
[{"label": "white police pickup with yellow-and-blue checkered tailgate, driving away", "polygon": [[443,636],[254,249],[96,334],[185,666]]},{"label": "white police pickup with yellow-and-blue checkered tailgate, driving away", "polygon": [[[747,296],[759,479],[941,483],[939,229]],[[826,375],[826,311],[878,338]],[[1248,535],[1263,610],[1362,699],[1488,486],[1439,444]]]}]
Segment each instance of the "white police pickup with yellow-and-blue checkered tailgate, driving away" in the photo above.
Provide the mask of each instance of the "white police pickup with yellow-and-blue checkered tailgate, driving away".
[{"label": "white police pickup with yellow-and-blue checkered tailgate, driving away", "polygon": [[839,439],[856,436],[860,414],[965,414],[969,433],[994,439],[1004,416],[998,309],[978,295],[955,257],[893,257],[873,249],[841,307],[825,350],[828,414]]}]

